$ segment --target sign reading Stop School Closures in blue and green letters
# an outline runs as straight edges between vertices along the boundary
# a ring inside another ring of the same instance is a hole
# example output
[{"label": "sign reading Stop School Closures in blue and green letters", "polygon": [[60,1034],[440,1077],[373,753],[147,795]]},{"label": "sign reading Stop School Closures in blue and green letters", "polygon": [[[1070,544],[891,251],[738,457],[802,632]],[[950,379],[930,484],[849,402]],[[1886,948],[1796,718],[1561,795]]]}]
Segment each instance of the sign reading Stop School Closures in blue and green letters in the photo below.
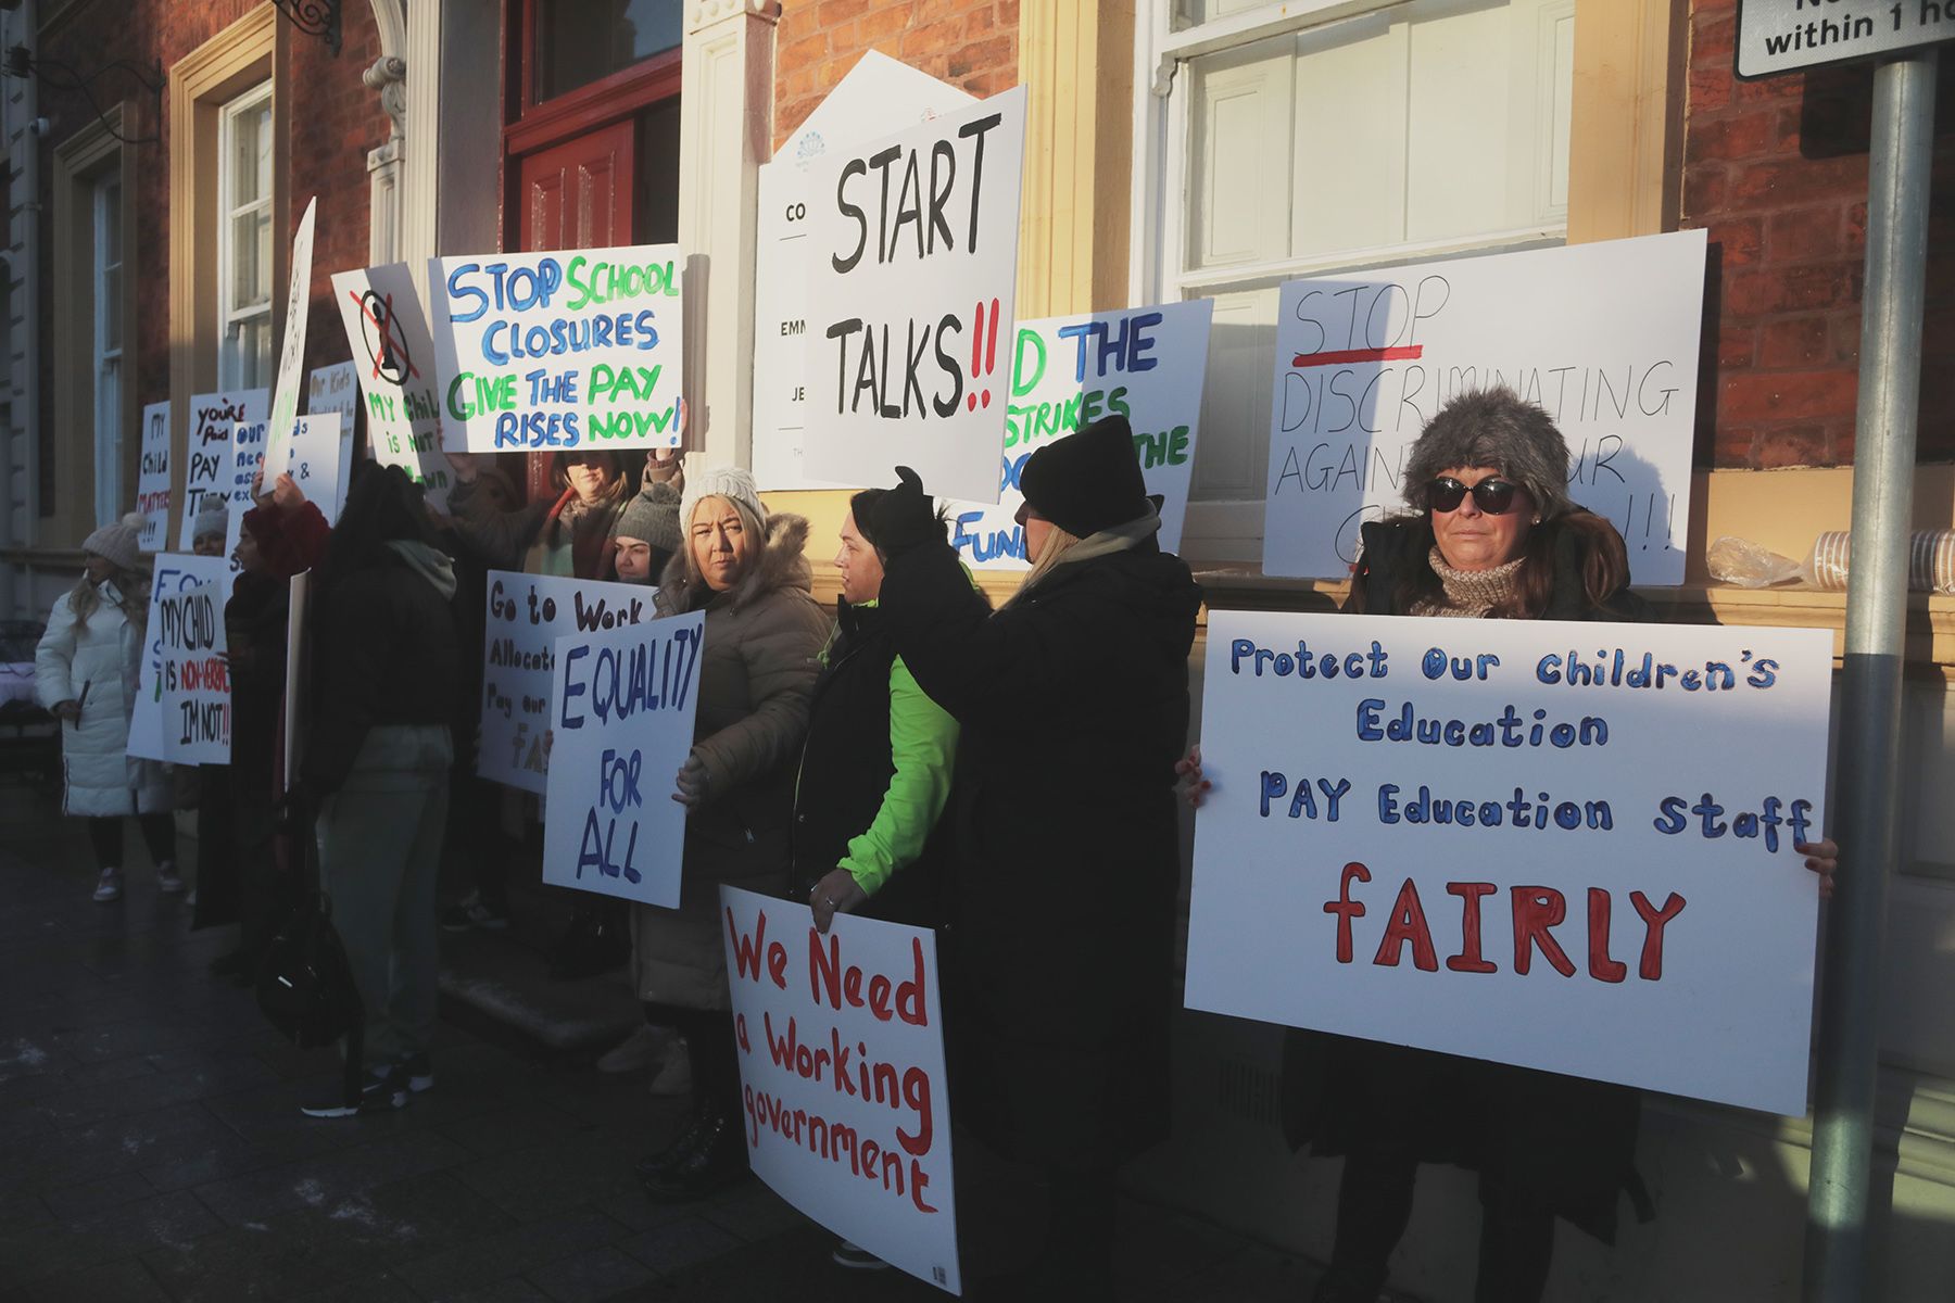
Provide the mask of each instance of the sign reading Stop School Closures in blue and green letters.
[{"label": "sign reading Stop School Closures in blue and green letters", "polygon": [[428,262],[450,451],[678,447],[676,244]]}]

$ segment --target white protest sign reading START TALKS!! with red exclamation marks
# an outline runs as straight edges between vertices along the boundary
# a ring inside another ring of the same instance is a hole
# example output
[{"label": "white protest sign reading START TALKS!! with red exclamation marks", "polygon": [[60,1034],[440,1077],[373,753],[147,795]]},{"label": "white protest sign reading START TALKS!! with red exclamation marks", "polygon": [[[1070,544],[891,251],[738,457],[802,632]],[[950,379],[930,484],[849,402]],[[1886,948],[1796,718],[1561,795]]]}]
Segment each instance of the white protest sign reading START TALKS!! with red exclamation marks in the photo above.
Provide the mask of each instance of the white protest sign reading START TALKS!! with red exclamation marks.
[{"label": "white protest sign reading START TALKS!! with red exclamation marks", "polygon": [[809,166],[809,475],[997,498],[1022,164],[1019,88]]}]

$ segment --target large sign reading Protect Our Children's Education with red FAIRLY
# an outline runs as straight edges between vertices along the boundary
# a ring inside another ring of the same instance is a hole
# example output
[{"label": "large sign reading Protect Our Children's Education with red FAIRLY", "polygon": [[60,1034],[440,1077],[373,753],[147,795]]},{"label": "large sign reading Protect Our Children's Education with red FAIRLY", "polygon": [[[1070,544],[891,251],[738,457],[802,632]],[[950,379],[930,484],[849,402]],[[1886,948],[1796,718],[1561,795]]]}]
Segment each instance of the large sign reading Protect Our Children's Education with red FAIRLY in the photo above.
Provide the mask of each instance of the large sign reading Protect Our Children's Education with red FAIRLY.
[{"label": "large sign reading Protect Our Children's Education with red FAIRLY", "polygon": [[1189,1008],[1804,1112],[1830,680],[1822,629],[1214,611]]}]

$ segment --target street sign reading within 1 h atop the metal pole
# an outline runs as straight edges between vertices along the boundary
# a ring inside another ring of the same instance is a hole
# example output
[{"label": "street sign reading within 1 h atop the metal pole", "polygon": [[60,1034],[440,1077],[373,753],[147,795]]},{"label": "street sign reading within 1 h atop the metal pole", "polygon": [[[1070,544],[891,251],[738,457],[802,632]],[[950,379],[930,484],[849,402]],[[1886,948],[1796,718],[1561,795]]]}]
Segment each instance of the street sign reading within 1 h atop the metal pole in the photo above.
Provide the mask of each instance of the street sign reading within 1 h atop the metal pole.
[{"label": "street sign reading within 1 h atop the metal pole", "polygon": [[1738,0],[1744,80],[1955,39],[1955,0]]}]

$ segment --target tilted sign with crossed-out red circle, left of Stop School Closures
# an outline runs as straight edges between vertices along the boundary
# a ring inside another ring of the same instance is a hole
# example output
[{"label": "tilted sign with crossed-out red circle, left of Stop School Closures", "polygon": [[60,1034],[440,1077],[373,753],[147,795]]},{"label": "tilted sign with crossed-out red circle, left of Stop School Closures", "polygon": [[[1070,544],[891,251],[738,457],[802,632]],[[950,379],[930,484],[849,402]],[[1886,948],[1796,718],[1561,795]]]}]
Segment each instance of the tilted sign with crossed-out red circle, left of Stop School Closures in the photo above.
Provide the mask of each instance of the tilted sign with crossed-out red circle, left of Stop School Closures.
[{"label": "tilted sign with crossed-out red circle, left of Stop School Closures", "polygon": [[414,273],[405,262],[338,272],[332,301],[368,408],[368,453],[407,471],[436,510],[448,510],[452,471],[442,455],[442,385]]}]

